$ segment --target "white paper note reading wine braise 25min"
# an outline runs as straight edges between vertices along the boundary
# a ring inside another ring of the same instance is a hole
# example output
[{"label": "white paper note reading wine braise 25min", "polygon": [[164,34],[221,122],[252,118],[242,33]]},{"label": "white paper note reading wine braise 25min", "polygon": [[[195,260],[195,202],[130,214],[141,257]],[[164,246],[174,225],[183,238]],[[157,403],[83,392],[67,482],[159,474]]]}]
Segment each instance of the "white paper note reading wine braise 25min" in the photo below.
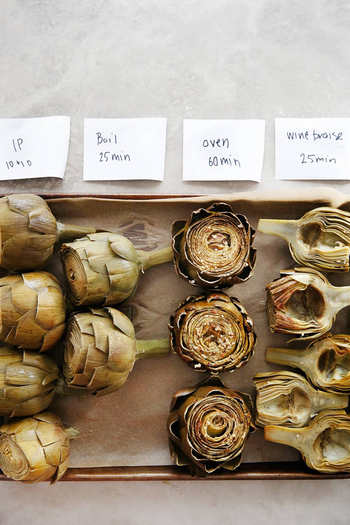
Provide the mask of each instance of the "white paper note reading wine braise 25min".
[{"label": "white paper note reading wine braise 25min", "polygon": [[275,119],[275,178],[350,180],[350,119]]}]

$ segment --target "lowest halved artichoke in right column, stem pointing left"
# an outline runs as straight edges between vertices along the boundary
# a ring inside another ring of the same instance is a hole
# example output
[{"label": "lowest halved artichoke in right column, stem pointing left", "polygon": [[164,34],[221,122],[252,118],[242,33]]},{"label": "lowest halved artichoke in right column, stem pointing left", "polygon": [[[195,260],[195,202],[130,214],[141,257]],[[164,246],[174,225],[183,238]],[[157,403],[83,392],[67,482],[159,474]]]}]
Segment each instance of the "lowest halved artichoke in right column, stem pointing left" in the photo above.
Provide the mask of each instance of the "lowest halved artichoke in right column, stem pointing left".
[{"label": "lowest halved artichoke in right column, stem pointing left", "polygon": [[325,474],[350,472],[350,415],[323,410],[304,428],[268,425],[265,439],[298,449],[306,465]]}]

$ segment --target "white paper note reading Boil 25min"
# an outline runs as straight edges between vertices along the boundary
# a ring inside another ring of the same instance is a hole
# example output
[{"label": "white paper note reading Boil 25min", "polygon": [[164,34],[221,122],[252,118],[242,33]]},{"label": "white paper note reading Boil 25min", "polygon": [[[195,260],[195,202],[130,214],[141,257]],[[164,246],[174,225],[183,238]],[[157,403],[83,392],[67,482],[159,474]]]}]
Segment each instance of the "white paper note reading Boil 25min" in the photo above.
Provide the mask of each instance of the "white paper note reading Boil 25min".
[{"label": "white paper note reading Boil 25min", "polygon": [[163,181],[166,119],[84,119],[84,181]]}]

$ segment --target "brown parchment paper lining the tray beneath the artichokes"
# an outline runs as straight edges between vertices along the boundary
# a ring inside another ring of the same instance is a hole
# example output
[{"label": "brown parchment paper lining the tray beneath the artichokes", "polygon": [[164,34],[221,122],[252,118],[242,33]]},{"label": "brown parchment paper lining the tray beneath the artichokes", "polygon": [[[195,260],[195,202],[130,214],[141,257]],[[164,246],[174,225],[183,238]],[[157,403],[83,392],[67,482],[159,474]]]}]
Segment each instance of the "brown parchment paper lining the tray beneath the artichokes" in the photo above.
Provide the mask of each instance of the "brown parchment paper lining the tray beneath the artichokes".
[{"label": "brown parchment paper lining the tray beneath the artichokes", "polygon": [[[106,198],[59,198],[48,201],[62,222],[94,225],[129,237],[136,248],[161,248],[171,243],[174,220],[184,219],[200,206],[225,201],[237,213],[245,214],[256,228],[260,217],[299,218],[321,205],[350,211],[348,196],[331,188],[288,192],[254,192],[203,197],[130,201]],[[281,369],[264,361],[267,346],[284,346],[287,336],[271,334],[265,312],[265,287],[279,277],[279,270],[294,267],[287,243],[257,232],[257,264],[254,276],[227,290],[245,305],[258,334],[256,353],[248,364],[234,373],[222,374],[230,388],[254,396],[255,372]],[[46,268],[64,280],[57,252]],[[349,274],[328,274],[334,285],[349,283]],[[168,337],[169,316],[197,287],[178,278],[171,262],[140,276],[135,297],[122,310],[129,315],[138,339]],[[348,309],[337,316],[333,333],[346,333]],[[292,343],[295,344],[295,343]],[[304,343],[305,344],[305,343]],[[299,344],[300,346],[300,344]],[[60,350],[56,350],[59,358]],[[169,457],[166,419],[172,395],[179,389],[203,380],[205,374],[190,369],[177,355],[135,363],[128,381],[114,394],[84,401],[62,397],[51,405],[63,422],[80,431],[71,443],[71,467],[167,465]],[[248,440],[243,461],[285,461],[298,459],[291,447],[264,441],[262,430]]]}]

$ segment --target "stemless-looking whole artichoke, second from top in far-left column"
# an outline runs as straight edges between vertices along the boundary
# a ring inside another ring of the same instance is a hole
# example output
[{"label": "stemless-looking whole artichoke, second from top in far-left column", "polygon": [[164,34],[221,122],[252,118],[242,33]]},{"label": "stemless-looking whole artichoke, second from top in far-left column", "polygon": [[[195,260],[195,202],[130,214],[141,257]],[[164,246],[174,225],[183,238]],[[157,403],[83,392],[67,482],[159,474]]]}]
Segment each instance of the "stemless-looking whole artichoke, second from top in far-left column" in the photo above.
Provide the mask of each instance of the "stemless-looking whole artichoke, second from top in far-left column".
[{"label": "stemless-looking whole artichoke, second from top in far-left column", "polygon": [[66,304],[58,280],[46,271],[0,279],[0,339],[45,352],[65,330]]}]

